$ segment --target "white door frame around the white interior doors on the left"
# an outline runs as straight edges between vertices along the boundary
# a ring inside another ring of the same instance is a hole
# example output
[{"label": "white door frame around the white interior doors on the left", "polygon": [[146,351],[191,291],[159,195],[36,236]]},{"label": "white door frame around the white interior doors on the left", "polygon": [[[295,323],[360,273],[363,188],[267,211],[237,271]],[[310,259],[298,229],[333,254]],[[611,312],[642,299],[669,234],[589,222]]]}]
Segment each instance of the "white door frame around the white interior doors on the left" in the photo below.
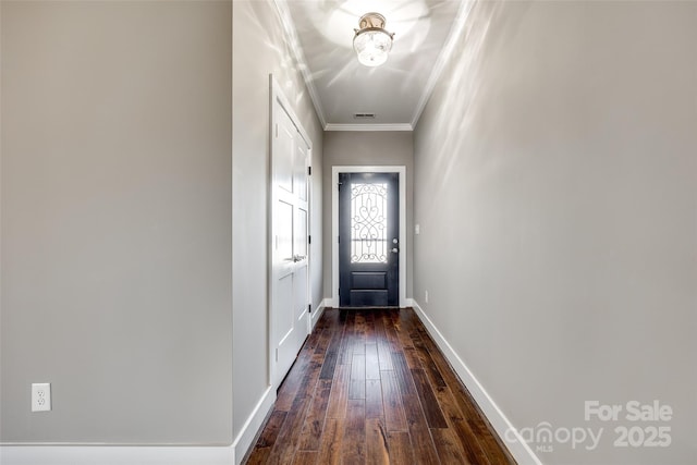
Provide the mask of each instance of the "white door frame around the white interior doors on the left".
[{"label": "white door frame around the white interior doors on the left", "polygon": [[[285,111],[288,115],[291,118],[291,121],[297,129],[297,132],[301,134],[301,137],[307,144],[307,159],[308,167],[311,169],[313,164],[313,142],[307,135],[307,132],[299,122],[299,119],[295,114],[293,107],[291,106],[290,100],[283,94],[283,90],[279,83],[277,82],[273,74],[269,74],[269,158],[268,158],[268,193],[267,193],[267,345],[268,345],[268,386],[276,391],[278,386],[273,382],[276,379],[276,347],[274,341],[272,338],[272,328],[273,328],[273,292],[276,291],[276,283],[273,280],[273,127],[278,120],[277,111]],[[282,109],[279,109],[279,106]],[[307,180],[307,231],[309,234],[310,224],[311,224],[311,203],[313,203],[313,183],[311,179],[308,176]],[[313,293],[311,293],[311,247],[307,244],[307,303],[313,308]],[[306,333],[309,334],[311,331],[311,314],[308,313],[307,317],[307,329]]]}]

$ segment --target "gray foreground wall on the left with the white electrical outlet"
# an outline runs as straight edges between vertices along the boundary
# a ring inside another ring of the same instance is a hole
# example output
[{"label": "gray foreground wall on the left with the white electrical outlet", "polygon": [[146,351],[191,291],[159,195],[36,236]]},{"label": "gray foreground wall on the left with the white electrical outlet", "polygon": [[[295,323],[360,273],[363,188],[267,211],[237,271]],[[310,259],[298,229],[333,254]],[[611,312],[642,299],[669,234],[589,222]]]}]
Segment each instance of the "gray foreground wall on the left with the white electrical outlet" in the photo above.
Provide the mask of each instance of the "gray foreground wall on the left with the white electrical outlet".
[{"label": "gray foreground wall on the left with the white electrical outlet", "polygon": [[0,439],[230,443],[231,2],[0,8]]}]

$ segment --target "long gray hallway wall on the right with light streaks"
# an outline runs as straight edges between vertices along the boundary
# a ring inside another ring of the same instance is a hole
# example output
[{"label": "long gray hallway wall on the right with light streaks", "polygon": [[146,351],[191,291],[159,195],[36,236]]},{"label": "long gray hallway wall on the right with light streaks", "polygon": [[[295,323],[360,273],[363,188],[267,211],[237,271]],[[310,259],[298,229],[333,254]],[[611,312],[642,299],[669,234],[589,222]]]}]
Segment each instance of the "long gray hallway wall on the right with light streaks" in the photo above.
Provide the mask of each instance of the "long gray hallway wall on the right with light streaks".
[{"label": "long gray hallway wall on the right with light streaks", "polygon": [[604,427],[545,463],[697,461],[696,70],[694,2],[482,2],[416,129],[415,298],[516,428]]}]

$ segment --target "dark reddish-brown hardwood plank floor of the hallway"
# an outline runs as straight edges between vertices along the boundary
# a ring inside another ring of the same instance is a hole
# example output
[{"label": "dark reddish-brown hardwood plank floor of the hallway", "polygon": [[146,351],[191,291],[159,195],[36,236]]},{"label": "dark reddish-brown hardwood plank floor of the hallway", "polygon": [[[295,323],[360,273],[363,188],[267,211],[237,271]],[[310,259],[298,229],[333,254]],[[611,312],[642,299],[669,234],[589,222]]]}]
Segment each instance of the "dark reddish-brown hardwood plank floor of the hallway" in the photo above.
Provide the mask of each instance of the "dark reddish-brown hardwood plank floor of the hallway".
[{"label": "dark reddish-brown hardwood plank floor of the hallway", "polygon": [[247,464],[514,464],[414,310],[328,308]]}]

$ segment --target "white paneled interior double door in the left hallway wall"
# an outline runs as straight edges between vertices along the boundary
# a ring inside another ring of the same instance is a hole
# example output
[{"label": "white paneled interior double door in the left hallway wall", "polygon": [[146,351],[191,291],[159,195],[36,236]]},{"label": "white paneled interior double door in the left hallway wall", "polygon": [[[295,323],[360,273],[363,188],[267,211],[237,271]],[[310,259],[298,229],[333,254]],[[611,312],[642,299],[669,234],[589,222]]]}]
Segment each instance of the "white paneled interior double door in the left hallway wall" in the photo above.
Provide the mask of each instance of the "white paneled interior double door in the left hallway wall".
[{"label": "white paneled interior double door in the left hallway wall", "polygon": [[271,148],[271,378],[278,387],[309,331],[309,148],[278,100]]}]

